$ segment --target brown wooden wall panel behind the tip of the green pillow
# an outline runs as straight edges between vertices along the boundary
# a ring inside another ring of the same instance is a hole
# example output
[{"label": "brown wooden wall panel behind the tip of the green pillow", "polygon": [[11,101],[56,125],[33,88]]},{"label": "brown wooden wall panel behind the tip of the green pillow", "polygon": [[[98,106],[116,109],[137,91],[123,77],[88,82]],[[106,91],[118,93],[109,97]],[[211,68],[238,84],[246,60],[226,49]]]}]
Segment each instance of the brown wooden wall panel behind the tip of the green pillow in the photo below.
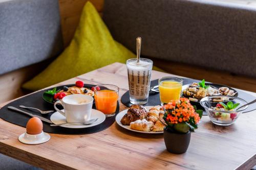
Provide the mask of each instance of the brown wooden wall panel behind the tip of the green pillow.
[{"label": "brown wooden wall panel behind the tip of the green pillow", "polygon": [[[69,45],[74,36],[82,8],[87,1],[88,0],[59,0],[61,29],[65,47]],[[102,15],[104,0],[90,0],[90,2],[95,6],[100,15]]]}]

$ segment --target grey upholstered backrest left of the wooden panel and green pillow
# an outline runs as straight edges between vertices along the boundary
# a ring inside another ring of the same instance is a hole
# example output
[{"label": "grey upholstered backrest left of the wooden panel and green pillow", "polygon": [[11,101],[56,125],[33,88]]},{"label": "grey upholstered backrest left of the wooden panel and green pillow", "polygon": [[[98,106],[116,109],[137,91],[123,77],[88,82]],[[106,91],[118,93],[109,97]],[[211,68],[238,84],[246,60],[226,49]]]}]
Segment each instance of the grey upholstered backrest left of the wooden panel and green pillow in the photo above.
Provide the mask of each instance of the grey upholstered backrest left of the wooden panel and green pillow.
[{"label": "grey upholstered backrest left of the wooden panel and green pillow", "polygon": [[0,74],[61,51],[58,0],[0,1]]}]

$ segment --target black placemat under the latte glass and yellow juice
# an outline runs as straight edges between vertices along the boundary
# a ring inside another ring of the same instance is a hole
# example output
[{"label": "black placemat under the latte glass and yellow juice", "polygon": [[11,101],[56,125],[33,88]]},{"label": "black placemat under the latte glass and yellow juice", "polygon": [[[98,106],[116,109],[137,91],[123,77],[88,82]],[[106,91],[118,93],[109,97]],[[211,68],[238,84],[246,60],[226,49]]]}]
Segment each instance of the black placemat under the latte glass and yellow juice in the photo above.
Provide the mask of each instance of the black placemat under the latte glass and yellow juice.
[{"label": "black placemat under the latte glass and yellow juice", "polygon": [[[194,82],[200,82],[200,80],[184,79],[183,78],[183,85],[191,84]],[[156,85],[158,85],[158,80],[151,81],[151,87],[154,87]],[[255,99],[255,97],[249,93],[246,93],[242,90],[237,90],[237,91],[238,91],[238,97],[244,99],[247,102],[253,101]],[[127,107],[131,107],[131,105],[133,105],[130,103],[129,91],[125,92],[122,95],[121,102],[122,102],[122,104],[124,104]],[[160,101],[159,93],[150,91],[150,95],[148,96],[148,102],[147,102],[147,104],[145,104],[145,106],[156,106],[156,105],[160,105],[160,104],[161,104],[161,101]],[[203,109],[203,107],[200,106],[200,104],[196,104],[196,106],[197,106],[197,109]],[[250,105],[243,113],[249,112],[249,111],[252,111],[255,109],[256,109],[256,103]],[[204,111],[203,115],[207,115],[207,113]]]}]

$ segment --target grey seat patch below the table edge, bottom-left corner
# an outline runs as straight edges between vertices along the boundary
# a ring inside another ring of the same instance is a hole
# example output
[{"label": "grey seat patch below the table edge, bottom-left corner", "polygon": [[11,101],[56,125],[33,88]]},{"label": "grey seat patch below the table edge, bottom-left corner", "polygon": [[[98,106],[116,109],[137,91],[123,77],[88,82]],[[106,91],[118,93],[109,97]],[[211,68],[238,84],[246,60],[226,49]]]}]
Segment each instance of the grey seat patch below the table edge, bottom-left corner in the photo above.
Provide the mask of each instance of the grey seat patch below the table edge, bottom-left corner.
[{"label": "grey seat patch below the table edge, bottom-left corner", "polygon": [[0,154],[0,169],[1,170],[40,170],[25,162],[13,159],[11,157]]}]

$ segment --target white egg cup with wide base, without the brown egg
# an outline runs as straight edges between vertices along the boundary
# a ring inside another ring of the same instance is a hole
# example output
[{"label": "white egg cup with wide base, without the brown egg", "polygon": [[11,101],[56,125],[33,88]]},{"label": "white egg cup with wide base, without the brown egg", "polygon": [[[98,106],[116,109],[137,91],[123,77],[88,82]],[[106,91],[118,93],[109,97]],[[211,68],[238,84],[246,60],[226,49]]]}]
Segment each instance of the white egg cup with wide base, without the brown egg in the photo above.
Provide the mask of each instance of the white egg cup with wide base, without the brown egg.
[{"label": "white egg cup with wide base, without the brown egg", "polygon": [[23,133],[18,137],[18,140],[25,144],[40,144],[47,142],[50,138],[51,136],[48,133],[42,131],[37,135],[30,135],[27,132]]}]

